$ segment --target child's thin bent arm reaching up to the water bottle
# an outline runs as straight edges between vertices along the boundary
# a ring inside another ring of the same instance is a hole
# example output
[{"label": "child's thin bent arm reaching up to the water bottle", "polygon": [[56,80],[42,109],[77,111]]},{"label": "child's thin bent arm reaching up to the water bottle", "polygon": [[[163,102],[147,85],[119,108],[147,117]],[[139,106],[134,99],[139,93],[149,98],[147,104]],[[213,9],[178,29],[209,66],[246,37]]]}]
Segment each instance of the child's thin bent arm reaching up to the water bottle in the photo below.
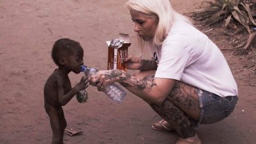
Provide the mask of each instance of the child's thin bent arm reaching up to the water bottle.
[{"label": "child's thin bent arm reaching up to the water bottle", "polygon": [[58,79],[58,102],[60,105],[64,106],[72,99],[75,94],[77,94],[79,91],[84,90],[89,86],[89,79],[88,77],[82,77],[81,81],[77,84],[75,84],[74,88],[72,88],[68,94],[64,95],[64,88],[63,88],[63,81]]}]

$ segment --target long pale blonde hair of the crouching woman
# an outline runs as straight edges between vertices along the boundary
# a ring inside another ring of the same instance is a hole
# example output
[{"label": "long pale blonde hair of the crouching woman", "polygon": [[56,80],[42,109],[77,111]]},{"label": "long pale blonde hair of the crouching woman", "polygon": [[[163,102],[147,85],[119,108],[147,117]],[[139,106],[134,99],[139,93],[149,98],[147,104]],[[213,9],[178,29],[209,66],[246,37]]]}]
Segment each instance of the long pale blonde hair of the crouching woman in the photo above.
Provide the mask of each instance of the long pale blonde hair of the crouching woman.
[{"label": "long pale blonde hair of the crouching woman", "polygon": [[[136,10],[147,15],[154,15],[158,18],[158,27],[154,35],[152,45],[162,45],[167,37],[171,26],[176,21],[184,21],[191,24],[190,21],[179,14],[171,7],[169,0],[129,0],[125,3],[125,7],[129,10]],[[144,48],[146,42],[141,37],[137,37],[140,48]]]}]

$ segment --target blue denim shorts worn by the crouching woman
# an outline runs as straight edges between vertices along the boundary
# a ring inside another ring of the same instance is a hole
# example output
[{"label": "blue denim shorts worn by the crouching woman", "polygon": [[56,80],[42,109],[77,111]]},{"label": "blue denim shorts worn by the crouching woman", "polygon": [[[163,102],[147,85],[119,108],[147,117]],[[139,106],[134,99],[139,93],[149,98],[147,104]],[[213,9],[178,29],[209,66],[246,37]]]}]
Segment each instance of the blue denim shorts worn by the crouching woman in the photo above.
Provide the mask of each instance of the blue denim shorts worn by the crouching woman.
[{"label": "blue denim shorts worn by the crouching woman", "polygon": [[[225,98],[198,88],[200,120],[198,124],[212,124],[228,117],[238,101],[237,96]],[[196,125],[198,125],[196,124]]]}]

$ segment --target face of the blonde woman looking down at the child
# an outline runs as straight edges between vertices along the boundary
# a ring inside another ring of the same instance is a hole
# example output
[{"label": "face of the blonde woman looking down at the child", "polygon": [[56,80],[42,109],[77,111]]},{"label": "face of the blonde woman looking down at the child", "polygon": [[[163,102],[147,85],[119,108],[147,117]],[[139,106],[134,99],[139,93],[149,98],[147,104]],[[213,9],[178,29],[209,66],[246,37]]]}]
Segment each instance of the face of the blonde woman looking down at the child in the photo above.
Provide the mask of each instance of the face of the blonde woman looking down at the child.
[{"label": "face of the blonde woman looking down at the child", "polygon": [[136,10],[130,10],[131,19],[135,22],[134,31],[138,33],[144,41],[150,41],[154,38],[156,28],[158,27],[158,18],[143,14]]}]

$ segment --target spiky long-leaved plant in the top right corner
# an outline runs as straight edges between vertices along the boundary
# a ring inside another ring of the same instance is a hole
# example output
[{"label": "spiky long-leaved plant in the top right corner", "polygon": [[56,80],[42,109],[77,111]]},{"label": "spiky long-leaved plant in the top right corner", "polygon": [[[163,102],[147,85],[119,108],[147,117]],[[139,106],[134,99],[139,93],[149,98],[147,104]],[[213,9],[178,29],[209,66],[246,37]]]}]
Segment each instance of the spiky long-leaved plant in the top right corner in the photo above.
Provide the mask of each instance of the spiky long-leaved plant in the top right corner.
[{"label": "spiky long-leaved plant in the top right corner", "polygon": [[[256,0],[203,1],[202,8],[187,13],[203,26],[221,24],[227,35],[236,35],[247,30],[247,38],[236,48],[247,50],[256,39]],[[229,29],[225,31],[225,29]],[[231,30],[230,30],[231,29]]]}]

